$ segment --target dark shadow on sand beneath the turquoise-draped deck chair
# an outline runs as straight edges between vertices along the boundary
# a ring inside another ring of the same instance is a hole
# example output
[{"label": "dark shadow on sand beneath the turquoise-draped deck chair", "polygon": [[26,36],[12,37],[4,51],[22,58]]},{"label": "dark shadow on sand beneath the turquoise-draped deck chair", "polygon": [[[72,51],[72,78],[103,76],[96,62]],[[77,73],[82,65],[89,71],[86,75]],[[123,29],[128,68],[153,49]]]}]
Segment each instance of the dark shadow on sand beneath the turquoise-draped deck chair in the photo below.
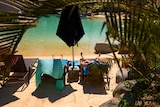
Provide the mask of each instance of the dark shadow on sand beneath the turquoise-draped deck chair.
[{"label": "dark shadow on sand beneath the turquoise-draped deck chair", "polygon": [[71,85],[66,85],[63,90],[57,91],[55,84],[56,80],[54,78],[45,75],[42,77],[41,84],[32,93],[32,95],[37,98],[48,98],[49,101],[53,103],[56,100],[76,91],[71,87]]}]

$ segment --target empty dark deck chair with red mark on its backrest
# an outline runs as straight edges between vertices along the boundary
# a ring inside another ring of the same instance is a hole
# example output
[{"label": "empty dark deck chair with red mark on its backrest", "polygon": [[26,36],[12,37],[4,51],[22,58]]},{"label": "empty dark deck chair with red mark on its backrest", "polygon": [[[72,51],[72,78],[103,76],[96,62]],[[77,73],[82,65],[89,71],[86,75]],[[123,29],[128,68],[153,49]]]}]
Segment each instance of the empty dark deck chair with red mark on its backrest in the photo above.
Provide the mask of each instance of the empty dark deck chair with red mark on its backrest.
[{"label": "empty dark deck chair with red mark on its backrest", "polygon": [[24,62],[22,55],[13,55],[9,81],[24,82],[29,84],[31,66],[28,68]]}]

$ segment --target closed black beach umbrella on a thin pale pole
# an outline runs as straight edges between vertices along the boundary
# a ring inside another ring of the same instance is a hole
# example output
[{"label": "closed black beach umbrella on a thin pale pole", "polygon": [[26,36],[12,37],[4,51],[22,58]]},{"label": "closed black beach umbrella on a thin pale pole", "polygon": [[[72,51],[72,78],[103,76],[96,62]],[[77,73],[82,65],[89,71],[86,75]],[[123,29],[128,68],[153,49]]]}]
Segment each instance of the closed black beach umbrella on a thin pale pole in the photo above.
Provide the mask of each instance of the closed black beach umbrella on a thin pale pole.
[{"label": "closed black beach umbrella on a thin pale pole", "polygon": [[69,47],[72,46],[74,66],[74,46],[84,35],[77,5],[70,5],[62,10],[56,35]]}]

